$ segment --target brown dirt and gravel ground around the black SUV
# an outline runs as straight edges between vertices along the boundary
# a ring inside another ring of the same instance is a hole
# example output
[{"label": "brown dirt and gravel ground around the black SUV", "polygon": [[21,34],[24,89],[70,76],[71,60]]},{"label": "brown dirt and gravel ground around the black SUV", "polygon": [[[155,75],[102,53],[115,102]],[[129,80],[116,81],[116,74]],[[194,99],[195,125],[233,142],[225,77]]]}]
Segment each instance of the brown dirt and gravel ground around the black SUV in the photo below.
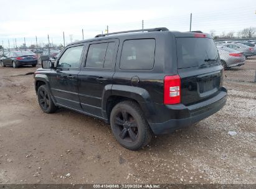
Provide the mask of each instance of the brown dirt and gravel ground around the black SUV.
[{"label": "brown dirt and gravel ground around the black SUV", "polygon": [[0,183],[256,183],[256,59],[225,71],[221,111],[137,152],[98,119],[42,113],[35,70],[0,68]]}]

